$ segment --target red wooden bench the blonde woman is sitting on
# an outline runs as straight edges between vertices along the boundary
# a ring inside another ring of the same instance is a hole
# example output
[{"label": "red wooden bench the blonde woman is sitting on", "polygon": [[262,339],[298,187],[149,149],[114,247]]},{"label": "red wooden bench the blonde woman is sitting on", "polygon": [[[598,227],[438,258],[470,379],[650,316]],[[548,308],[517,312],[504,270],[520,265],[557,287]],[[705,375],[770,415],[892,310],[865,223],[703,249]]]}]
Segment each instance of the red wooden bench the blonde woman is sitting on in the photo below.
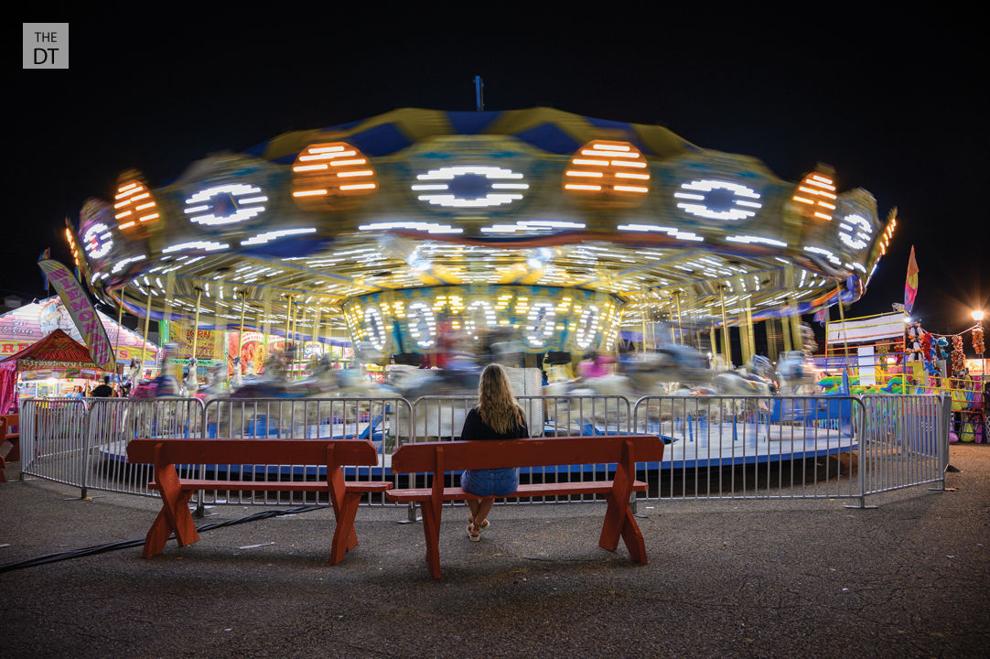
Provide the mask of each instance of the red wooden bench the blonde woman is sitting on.
[{"label": "red wooden bench the blonde woman is sitting on", "polygon": [[616,463],[612,480],[520,485],[514,494],[500,498],[608,495],[608,508],[598,544],[615,551],[621,537],[632,560],[646,563],[646,544],[630,508],[630,496],[646,490],[636,480],[636,462],[658,462],[663,442],[655,436],[559,437],[552,439],[478,440],[405,444],[392,456],[394,473],[432,472],[430,488],[393,489],[392,501],[419,503],[423,509],[426,563],[434,579],[440,578],[440,514],[444,501],[479,499],[459,487],[444,487],[444,473],[463,469],[542,467]]}]

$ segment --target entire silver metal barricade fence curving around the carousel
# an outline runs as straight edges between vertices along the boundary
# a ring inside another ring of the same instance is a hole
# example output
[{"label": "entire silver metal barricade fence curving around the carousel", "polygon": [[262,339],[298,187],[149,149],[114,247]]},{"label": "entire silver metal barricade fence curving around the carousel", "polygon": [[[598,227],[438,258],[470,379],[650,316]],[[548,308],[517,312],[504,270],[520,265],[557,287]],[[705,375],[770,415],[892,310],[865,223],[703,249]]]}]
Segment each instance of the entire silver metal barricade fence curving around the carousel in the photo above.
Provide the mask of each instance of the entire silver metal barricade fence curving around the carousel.
[{"label": "entire silver metal barricade fence curving around the carousel", "polygon": [[[638,463],[651,499],[859,499],[923,484],[944,488],[951,401],[935,396],[521,396],[533,437],[648,433],[664,458]],[[426,474],[391,473],[403,442],[460,435],[475,396],[404,398],[56,399],[21,405],[22,472],[87,488],[156,496],[149,465],[126,461],[142,438],[366,438],[375,467],[347,467],[350,480],[426,486]],[[178,465],[201,480],[307,480],[314,465]],[[325,469],[325,467],[323,467]],[[614,465],[522,469],[523,482],[600,480]],[[447,484],[458,482],[448,474]],[[324,503],[314,493],[199,493],[203,503]],[[561,498],[564,500],[564,498]],[[583,500],[571,497],[566,500]],[[383,495],[368,503],[382,505]]]}]

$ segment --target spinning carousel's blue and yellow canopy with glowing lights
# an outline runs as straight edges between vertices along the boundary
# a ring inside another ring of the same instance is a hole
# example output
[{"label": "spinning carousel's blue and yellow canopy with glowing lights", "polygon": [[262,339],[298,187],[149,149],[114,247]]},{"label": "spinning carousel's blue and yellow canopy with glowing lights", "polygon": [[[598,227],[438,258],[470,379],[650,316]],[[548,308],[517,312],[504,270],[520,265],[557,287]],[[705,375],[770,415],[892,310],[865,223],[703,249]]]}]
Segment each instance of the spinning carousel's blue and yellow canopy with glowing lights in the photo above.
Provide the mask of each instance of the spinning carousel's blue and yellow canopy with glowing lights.
[{"label": "spinning carousel's blue and yellow canopy with glowing lights", "polygon": [[401,352],[449,314],[585,349],[675,310],[733,323],[858,299],[896,219],[837,179],[550,108],[401,109],[212,155],[163,187],[126,171],[67,239],[93,292],[140,315],[346,324]]}]

